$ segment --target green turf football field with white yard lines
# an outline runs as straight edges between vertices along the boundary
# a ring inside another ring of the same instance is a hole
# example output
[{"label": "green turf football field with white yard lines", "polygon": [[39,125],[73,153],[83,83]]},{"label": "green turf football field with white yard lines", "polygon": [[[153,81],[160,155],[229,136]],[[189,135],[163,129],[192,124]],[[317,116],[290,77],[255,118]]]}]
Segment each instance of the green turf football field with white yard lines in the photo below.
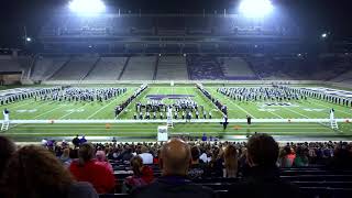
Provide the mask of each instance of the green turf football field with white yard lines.
[{"label": "green turf football field with white yard lines", "polygon": [[[121,87],[121,86],[119,86]],[[219,86],[218,86],[219,87]],[[308,99],[300,101],[290,101],[290,107],[266,107],[264,101],[258,102],[239,102],[227,96],[217,92],[217,86],[206,86],[205,88],[218,100],[228,106],[230,119],[244,119],[245,116],[253,118],[251,127],[245,123],[230,122],[226,131],[220,123],[176,123],[169,131],[176,134],[189,134],[200,136],[202,133],[216,136],[248,135],[254,132],[266,132],[274,135],[294,135],[294,136],[339,136],[352,139],[352,124],[339,123],[339,130],[331,130],[326,123],[256,123],[256,119],[327,119],[329,110],[336,109],[336,118],[351,119],[352,110],[348,107],[332,105],[326,101]],[[35,101],[29,99],[1,108],[8,108],[12,120],[113,120],[114,107],[129,98],[136,86],[128,86],[128,91],[114,99],[105,102],[64,102],[64,101]],[[193,95],[198,106],[204,106],[207,112],[211,111],[213,119],[221,119],[222,114],[210,100],[208,100],[194,85],[183,86],[150,86],[143,91],[118,120],[129,120],[133,118],[135,102],[146,102],[147,95]],[[165,103],[172,103],[166,99]],[[11,136],[19,141],[31,141],[42,139],[43,136],[73,136],[75,134],[86,134],[89,136],[120,136],[120,138],[150,138],[156,136],[156,129],[163,123],[86,123],[86,124],[12,124],[9,131],[2,134]]]}]

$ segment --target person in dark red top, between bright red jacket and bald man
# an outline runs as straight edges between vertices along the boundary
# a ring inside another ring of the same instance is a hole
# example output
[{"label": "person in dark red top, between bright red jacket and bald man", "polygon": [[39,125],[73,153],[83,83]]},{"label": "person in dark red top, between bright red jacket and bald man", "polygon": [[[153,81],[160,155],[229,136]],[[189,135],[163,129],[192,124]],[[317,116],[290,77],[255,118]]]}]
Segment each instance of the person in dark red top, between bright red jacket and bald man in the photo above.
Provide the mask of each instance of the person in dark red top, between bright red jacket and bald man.
[{"label": "person in dark red top, between bright red jacket and bald man", "polygon": [[131,168],[133,176],[129,176],[123,183],[123,193],[131,193],[136,187],[142,187],[151,184],[154,180],[153,169],[143,165],[142,157],[134,156],[131,160]]}]

